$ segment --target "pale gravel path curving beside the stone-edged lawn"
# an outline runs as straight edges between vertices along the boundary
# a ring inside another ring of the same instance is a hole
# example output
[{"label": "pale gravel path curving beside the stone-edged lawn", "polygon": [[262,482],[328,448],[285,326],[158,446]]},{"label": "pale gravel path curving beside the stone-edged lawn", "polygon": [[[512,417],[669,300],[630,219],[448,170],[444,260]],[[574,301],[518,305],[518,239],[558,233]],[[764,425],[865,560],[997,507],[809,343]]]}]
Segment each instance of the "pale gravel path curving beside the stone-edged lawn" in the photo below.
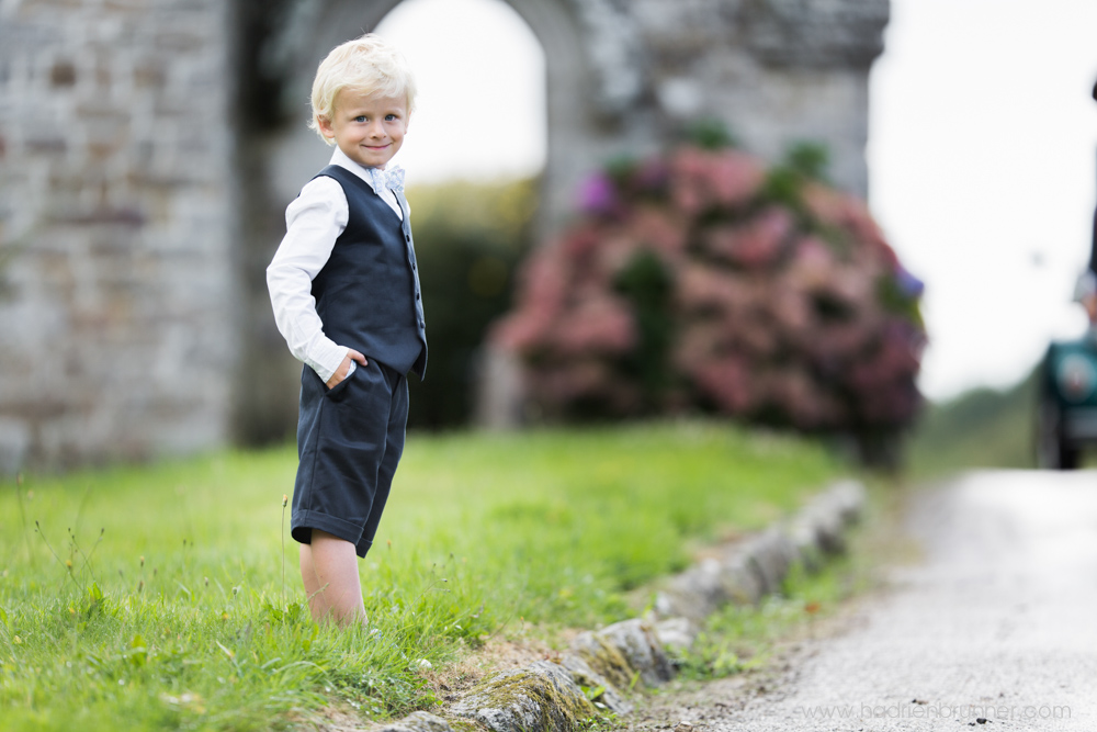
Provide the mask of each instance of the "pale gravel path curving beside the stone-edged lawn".
[{"label": "pale gravel path curving beside the stone-edged lawn", "polygon": [[1097,474],[982,472],[907,516],[924,561],[768,676],[653,697],[622,729],[1097,732]]}]

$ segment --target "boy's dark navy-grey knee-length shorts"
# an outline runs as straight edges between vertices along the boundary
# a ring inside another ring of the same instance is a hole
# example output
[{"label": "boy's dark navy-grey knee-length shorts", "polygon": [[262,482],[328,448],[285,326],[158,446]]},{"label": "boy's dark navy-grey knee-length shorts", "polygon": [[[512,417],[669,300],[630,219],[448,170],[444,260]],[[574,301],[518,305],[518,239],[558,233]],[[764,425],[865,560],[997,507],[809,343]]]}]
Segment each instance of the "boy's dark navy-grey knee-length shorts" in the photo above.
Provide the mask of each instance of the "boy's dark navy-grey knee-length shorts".
[{"label": "boy's dark navy-grey knee-length shorts", "polygon": [[377,533],[404,452],[408,385],[403,374],[369,359],[328,390],[310,368],[301,374],[293,538],[313,529],[354,544],[365,556]]}]

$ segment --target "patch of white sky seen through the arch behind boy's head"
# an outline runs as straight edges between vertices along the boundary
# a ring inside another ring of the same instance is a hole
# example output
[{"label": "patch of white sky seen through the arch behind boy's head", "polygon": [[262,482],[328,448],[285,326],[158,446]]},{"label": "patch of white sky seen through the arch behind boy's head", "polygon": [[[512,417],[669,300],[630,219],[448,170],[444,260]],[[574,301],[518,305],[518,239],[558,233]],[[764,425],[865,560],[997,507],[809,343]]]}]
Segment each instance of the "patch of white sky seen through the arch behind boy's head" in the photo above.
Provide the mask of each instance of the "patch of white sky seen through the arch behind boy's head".
[{"label": "patch of white sky seen through the arch behind boy's head", "polygon": [[376,32],[404,52],[419,85],[397,160],[409,182],[544,167],[544,52],[504,0],[405,0]]}]

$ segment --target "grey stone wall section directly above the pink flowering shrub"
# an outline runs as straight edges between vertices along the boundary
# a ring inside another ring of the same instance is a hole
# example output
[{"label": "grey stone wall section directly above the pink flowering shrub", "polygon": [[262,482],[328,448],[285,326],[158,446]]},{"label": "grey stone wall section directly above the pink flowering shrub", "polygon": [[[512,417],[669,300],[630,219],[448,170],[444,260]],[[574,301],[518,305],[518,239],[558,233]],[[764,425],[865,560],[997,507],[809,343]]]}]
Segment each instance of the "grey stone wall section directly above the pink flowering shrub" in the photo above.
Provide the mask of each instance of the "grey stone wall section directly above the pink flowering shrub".
[{"label": "grey stone wall section directly above the pink flowering shrub", "polygon": [[889,11],[887,0],[643,0],[634,12],[665,119],[720,117],[770,159],[822,142],[835,183],[863,196],[868,77]]}]

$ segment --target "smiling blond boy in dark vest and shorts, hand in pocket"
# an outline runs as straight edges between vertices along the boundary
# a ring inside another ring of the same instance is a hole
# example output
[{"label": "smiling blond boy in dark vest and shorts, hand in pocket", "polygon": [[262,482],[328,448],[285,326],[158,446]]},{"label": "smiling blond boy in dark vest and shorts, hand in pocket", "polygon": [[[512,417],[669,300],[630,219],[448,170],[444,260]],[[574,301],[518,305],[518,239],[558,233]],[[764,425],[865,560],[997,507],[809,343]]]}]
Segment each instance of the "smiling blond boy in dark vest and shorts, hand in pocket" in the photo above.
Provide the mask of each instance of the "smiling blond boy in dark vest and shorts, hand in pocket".
[{"label": "smiling blond boy in dark vest and shorts, hand in pocket", "polygon": [[318,622],[366,622],[355,555],[373,543],[404,450],[405,375],[427,365],[404,171],[386,172],[415,92],[407,61],[372,34],[320,63],[309,126],[336,149],[286,209],[267,269],[278,328],[305,364],[291,532]]}]

